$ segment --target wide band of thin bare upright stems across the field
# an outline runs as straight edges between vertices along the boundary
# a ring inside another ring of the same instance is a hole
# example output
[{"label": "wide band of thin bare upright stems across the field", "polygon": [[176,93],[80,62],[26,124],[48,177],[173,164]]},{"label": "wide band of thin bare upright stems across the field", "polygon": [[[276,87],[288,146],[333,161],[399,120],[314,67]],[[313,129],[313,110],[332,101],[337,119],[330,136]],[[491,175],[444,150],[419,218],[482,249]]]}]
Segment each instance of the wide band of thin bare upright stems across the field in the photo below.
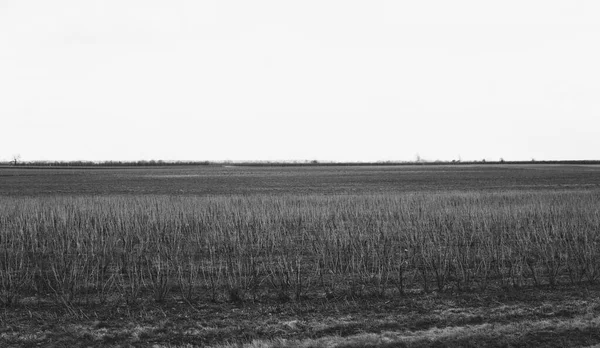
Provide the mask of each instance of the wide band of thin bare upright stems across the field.
[{"label": "wide band of thin bare upright stems across the field", "polygon": [[0,300],[256,300],[600,277],[600,193],[0,197]]}]

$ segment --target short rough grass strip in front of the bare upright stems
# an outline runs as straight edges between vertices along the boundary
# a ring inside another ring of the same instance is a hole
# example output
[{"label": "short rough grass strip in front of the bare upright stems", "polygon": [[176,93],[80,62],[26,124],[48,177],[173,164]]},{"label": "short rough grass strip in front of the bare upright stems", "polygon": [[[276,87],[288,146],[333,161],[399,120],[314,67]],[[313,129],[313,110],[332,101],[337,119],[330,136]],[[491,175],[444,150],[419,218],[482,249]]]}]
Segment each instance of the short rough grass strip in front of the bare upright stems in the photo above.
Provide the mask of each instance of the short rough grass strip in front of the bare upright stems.
[{"label": "short rough grass strip in front of the bare upright stems", "polygon": [[3,347],[585,347],[600,343],[600,288],[70,311],[24,304],[0,324]]}]

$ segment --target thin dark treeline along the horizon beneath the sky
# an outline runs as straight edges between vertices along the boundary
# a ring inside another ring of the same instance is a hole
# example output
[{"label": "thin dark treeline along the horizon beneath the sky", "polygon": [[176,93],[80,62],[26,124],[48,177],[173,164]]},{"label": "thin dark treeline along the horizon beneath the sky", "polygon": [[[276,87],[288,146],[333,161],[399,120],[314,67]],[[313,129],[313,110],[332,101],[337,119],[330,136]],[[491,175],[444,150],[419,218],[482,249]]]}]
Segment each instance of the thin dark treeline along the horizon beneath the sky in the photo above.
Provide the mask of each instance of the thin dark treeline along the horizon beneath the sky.
[{"label": "thin dark treeline along the horizon beneath the sky", "polygon": [[600,164],[600,160],[553,160],[553,161],[379,161],[379,162],[321,162],[321,161],[4,161],[3,166],[19,167],[155,167],[155,166],[200,166],[230,165],[251,167],[305,167],[305,166],[402,166],[402,165],[510,165],[510,164]]}]

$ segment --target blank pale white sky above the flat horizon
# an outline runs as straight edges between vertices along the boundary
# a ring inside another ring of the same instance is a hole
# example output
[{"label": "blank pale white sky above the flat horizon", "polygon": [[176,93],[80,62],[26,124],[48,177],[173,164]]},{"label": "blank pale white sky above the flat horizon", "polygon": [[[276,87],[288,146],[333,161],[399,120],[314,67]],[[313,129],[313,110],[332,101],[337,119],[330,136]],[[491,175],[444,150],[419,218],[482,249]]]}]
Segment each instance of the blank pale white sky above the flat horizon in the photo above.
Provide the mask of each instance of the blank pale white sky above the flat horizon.
[{"label": "blank pale white sky above the flat horizon", "polygon": [[600,159],[596,0],[0,0],[0,160]]}]

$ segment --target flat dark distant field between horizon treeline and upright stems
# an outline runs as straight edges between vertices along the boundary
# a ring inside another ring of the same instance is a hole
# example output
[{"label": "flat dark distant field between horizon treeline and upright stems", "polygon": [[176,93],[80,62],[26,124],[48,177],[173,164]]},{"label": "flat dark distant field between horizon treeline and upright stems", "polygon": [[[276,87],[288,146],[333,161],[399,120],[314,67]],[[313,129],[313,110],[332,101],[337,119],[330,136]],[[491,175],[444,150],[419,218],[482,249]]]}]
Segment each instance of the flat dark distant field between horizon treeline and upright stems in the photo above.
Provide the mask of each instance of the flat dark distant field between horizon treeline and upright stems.
[{"label": "flat dark distant field between horizon treeline and upright stems", "polygon": [[0,167],[0,195],[232,195],[600,188],[600,165]]}]

